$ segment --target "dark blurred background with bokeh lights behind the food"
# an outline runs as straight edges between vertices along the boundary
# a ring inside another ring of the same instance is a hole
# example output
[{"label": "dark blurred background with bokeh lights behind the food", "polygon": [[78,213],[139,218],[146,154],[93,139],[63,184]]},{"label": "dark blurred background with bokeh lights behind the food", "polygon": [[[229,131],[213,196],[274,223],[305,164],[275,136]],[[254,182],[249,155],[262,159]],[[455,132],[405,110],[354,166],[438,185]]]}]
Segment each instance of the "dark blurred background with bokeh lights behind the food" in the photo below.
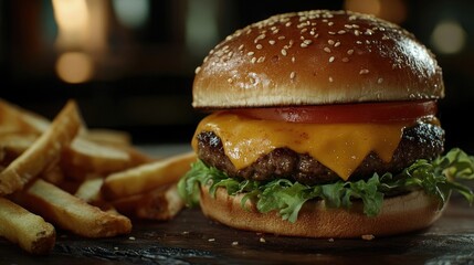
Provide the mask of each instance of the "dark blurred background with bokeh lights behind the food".
[{"label": "dark blurred background with bokeh lights behind the food", "polygon": [[69,98],[88,127],[136,144],[189,142],[194,68],[236,29],[289,11],[347,9],[413,32],[436,54],[446,147],[474,153],[474,1],[11,0],[0,1],[0,97],[53,118]]}]

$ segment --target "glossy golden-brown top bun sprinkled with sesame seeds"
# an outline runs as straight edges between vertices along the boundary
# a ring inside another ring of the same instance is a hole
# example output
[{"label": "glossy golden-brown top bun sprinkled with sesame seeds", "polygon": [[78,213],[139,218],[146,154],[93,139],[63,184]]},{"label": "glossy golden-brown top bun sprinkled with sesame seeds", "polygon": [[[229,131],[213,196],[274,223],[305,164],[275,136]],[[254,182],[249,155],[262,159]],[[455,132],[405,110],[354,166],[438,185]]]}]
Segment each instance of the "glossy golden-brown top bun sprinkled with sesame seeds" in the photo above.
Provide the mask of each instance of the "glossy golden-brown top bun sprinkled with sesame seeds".
[{"label": "glossy golden-brown top bun sprinkled with sesame seeds", "polygon": [[271,17],[219,43],[196,70],[196,108],[444,96],[433,54],[402,28],[349,11]]}]

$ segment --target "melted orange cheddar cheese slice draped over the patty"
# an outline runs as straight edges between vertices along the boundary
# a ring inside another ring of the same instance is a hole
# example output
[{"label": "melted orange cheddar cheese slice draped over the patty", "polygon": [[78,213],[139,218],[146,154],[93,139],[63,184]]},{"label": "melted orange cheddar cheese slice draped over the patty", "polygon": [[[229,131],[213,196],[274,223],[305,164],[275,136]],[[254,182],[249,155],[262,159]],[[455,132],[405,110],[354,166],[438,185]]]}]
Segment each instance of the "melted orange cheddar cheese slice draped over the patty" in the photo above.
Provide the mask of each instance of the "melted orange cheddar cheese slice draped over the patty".
[{"label": "melted orange cheddar cheese slice draped over the patty", "polygon": [[223,144],[225,155],[236,169],[245,168],[274,150],[286,147],[308,153],[347,180],[369,152],[390,162],[403,128],[413,121],[387,124],[302,124],[252,119],[218,112],[198,125],[197,135],[213,131]]}]

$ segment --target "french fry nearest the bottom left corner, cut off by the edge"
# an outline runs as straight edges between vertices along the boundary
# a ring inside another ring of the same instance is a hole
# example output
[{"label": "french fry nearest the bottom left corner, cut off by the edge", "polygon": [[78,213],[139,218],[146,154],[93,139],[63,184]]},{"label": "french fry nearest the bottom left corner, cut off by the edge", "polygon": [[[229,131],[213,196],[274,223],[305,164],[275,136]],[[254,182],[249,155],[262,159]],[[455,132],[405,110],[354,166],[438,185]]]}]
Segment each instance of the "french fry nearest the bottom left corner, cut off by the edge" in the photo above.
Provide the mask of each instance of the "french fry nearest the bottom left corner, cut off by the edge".
[{"label": "french fry nearest the bottom left corner, cut off by the edge", "polygon": [[31,254],[49,253],[56,241],[52,224],[4,198],[0,198],[0,236]]}]

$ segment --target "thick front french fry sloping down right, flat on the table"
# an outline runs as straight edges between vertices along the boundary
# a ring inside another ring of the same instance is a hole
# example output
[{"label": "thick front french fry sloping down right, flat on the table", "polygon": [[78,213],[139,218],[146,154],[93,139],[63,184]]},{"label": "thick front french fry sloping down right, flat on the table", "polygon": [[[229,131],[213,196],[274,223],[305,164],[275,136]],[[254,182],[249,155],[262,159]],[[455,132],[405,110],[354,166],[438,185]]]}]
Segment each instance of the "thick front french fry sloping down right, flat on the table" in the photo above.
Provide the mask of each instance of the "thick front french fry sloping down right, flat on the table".
[{"label": "thick front french fry sloping down right, flat on the table", "polygon": [[128,218],[104,212],[41,179],[13,198],[20,205],[81,236],[109,237],[131,231]]}]

